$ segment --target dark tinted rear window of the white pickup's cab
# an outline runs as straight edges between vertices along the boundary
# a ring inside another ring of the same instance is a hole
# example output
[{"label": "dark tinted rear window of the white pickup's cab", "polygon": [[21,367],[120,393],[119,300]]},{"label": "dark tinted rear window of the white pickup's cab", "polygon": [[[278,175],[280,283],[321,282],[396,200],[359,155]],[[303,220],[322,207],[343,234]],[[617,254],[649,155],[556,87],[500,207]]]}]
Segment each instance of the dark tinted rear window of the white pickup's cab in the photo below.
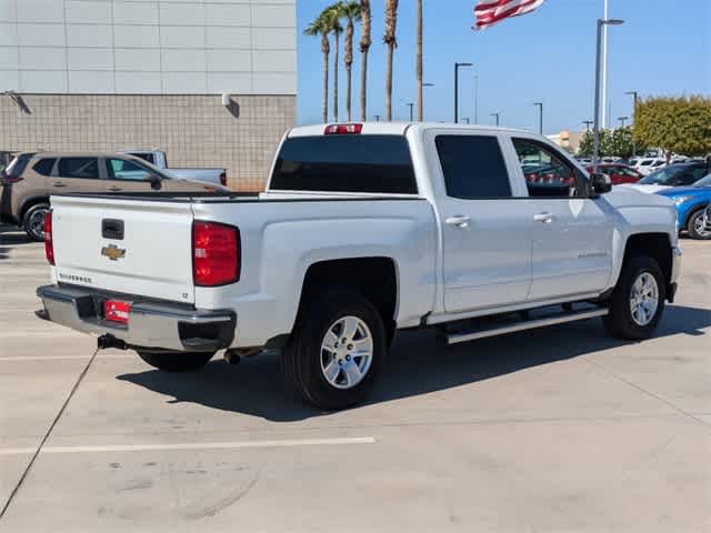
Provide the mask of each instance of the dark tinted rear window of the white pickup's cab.
[{"label": "dark tinted rear window of the white pickup's cab", "polygon": [[272,191],[417,194],[410,147],[402,135],[314,135],[287,139]]}]

